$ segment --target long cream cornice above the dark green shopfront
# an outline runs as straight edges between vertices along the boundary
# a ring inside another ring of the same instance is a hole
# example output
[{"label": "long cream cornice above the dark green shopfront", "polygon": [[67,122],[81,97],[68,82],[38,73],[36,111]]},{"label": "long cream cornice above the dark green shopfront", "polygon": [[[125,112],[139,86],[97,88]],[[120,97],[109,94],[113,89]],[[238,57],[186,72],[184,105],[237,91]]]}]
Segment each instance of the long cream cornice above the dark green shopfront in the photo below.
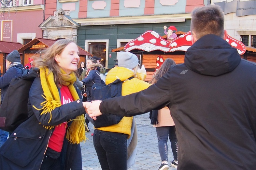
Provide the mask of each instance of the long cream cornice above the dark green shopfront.
[{"label": "long cream cornice above the dark green shopfront", "polygon": [[81,26],[113,25],[113,24],[135,24],[135,23],[162,23],[162,22],[185,22],[191,19],[191,14],[169,14],[169,15],[143,15],[127,17],[105,17],[105,18],[78,18],[72,19]]}]

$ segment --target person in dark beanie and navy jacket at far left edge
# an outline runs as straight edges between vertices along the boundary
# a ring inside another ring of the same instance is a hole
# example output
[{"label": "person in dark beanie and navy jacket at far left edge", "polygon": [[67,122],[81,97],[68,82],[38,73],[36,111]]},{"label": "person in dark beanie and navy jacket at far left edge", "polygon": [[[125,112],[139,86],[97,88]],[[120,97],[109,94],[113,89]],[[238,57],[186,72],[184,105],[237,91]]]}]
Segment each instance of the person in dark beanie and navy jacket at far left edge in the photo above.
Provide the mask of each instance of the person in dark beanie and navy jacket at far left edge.
[{"label": "person in dark beanie and navy jacket at far left edge", "polygon": [[[4,100],[4,95],[10,85],[10,82],[13,78],[21,77],[23,73],[23,65],[20,61],[20,55],[17,50],[12,51],[10,54],[7,55],[5,60],[6,65],[6,73],[0,77],[0,88],[1,88],[1,102],[2,104]],[[7,140],[8,132],[0,130],[0,147],[3,143]]]}]

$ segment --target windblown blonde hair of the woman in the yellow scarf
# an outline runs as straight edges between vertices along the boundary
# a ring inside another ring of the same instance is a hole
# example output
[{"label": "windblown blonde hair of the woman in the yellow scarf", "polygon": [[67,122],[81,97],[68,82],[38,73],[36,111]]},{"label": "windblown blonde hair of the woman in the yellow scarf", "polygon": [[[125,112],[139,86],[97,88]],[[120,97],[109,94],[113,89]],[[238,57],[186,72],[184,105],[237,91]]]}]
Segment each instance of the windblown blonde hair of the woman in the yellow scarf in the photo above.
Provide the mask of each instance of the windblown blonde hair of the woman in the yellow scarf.
[{"label": "windblown blonde hair of the woman in the yellow scarf", "polygon": [[[42,53],[41,57],[33,56],[34,60],[34,67],[35,68],[43,68],[47,67],[49,69],[49,73],[53,72],[54,75],[54,82],[57,85],[57,87],[61,87],[61,84],[64,83],[64,81],[61,79],[63,77],[69,78],[70,76],[68,74],[62,74],[61,68],[58,65],[58,63],[55,61],[55,56],[60,55],[62,51],[64,50],[67,45],[70,43],[75,43],[73,40],[70,39],[60,39],[56,41],[51,47],[39,51],[38,53]],[[76,43],[75,43],[76,44]]]}]

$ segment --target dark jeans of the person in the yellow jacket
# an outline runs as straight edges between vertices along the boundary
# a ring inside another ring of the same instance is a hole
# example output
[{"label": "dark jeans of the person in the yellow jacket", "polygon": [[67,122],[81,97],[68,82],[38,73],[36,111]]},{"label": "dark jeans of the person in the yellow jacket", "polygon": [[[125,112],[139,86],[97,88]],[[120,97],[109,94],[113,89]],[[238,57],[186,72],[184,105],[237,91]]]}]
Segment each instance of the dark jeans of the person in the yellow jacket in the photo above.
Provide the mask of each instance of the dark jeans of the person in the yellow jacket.
[{"label": "dark jeans of the person in the yellow jacket", "polygon": [[127,169],[127,136],[94,130],[93,144],[102,170]]}]

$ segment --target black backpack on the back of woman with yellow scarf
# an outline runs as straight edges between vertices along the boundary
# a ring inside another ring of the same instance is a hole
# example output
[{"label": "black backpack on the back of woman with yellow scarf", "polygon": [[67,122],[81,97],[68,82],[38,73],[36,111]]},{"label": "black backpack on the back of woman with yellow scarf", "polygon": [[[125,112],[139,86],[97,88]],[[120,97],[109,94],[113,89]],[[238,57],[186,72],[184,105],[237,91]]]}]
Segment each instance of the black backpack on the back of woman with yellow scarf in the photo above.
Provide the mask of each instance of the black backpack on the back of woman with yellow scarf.
[{"label": "black backpack on the back of woman with yellow scarf", "polygon": [[[24,69],[24,74],[28,69]],[[0,129],[12,133],[28,118],[28,94],[34,78],[13,78],[0,107]]]}]

